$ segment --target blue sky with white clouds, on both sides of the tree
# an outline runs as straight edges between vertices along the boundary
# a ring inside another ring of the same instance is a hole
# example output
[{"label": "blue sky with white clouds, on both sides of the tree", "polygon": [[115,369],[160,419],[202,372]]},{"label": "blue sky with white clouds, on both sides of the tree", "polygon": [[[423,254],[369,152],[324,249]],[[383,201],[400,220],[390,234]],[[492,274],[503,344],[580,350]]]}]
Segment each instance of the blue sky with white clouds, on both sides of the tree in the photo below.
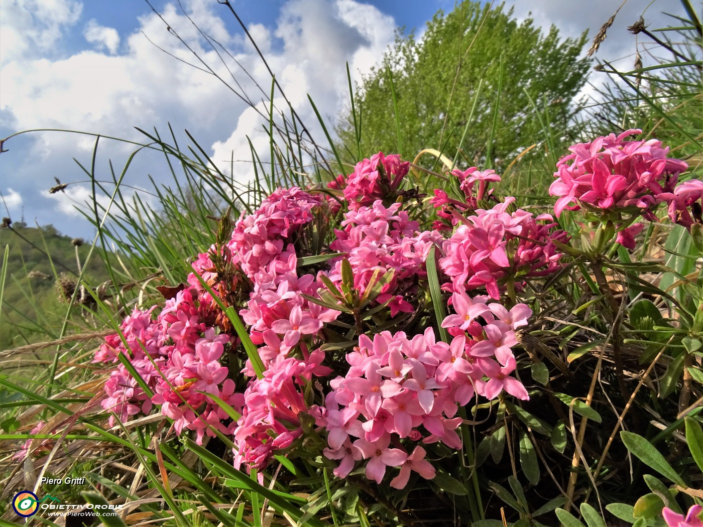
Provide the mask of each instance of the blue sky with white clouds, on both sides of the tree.
[{"label": "blue sky with white clouds, on both sides of the tree", "polygon": [[[195,34],[184,11],[231,49],[264,86],[270,83],[236,20],[217,0],[181,0],[182,8],[176,0],[152,4],[211,63],[217,64],[217,57]],[[565,36],[586,29],[595,34],[614,9],[611,0],[507,4],[515,7],[517,18],[531,15],[536,25],[555,24]],[[624,27],[647,4],[641,0],[625,4],[599,58],[631,63],[636,39]],[[354,77],[360,79],[392,43],[395,27],[421,33],[425,22],[438,9],[451,9],[453,1],[238,0],[233,6],[304,121],[316,122],[307,102],[309,93],[322,115],[333,122],[348,100],[344,63],[349,62]],[[654,1],[645,13],[653,27],[669,25],[671,19],[661,11],[678,14],[681,5],[678,0]],[[236,159],[246,158],[247,136],[267,150],[261,122],[251,110],[212,77],[154,46],[192,60],[144,0],[2,0],[0,25],[0,137],[56,128],[137,140],[134,126],[164,130],[171,124],[177,131],[191,131],[216,161],[229,160],[232,152]],[[89,196],[89,186],[73,159],[89,164],[93,145],[94,138],[56,132],[8,141],[4,147],[8,152],[0,156],[4,197],[0,216],[9,214],[18,221],[23,212],[30,225],[53,223],[67,235],[91,238],[91,227],[75,209]],[[110,177],[108,158],[122,167],[131,150],[124,143],[101,141],[98,177]],[[244,181],[249,171],[238,166],[236,176]],[[140,155],[127,183],[141,189],[146,199],[148,176],[157,183],[167,181],[159,160]],[[49,195],[54,177],[71,183],[65,193]]]}]

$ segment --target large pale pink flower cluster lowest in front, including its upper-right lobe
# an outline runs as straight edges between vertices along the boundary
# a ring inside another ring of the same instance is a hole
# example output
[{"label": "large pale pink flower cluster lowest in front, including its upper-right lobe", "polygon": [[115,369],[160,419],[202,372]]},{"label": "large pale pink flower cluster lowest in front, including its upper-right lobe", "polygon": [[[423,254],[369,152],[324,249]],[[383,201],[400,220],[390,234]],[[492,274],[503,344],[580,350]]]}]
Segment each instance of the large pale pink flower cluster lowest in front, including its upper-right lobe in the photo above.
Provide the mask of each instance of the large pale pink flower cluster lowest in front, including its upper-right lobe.
[{"label": "large pale pink flower cluster lowest in front, including its upper-right lobe", "polygon": [[377,483],[388,467],[401,469],[391,481],[395,488],[404,488],[411,470],[432,479],[425,450],[417,446],[408,455],[401,441],[441,441],[460,448],[456,429],[462,419],[456,412],[476,393],[496,398],[505,390],[529,398],[520,381],[510,377],[516,367],[510,346],[517,344],[515,327],[527,324],[531,310],[517,304],[508,311],[501,304],[485,304],[487,297],[470,299],[465,293],[453,297],[457,313],[442,323],[450,328],[451,344],[437,342],[432,328],[414,337],[385,331],[373,341],[361,335],[358,348],[347,354],[349,370],[330,383],[333,391],[317,418],[328,432],[325,456],[340,460],[335,475],[347,476],[364,459],[366,477]]}]

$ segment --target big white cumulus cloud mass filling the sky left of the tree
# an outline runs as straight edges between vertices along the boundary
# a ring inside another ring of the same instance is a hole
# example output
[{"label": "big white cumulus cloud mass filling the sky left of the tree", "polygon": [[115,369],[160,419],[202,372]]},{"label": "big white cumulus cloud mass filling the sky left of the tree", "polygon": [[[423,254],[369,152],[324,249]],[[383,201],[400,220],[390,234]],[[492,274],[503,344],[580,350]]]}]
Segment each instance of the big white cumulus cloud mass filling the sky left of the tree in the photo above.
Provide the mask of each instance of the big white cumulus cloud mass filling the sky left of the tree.
[{"label": "big white cumulus cloud mass filling the sky left of the tree", "polygon": [[[74,129],[145,141],[134,127],[150,132],[156,127],[163,133],[171,124],[176,133],[188,129],[223,169],[228,169],[232,156],[236,160],[251,159],[247,136],[265,161],[269,148],[262,129],[264,119],[233,96],[212,72],[236,87],[235,77],[245,95],[264,113],[268,108],[261,101],[269,96],[269,73],[243,34],[228,28],[220,18],[226,13],[219,4],[187,0],[181,5],[187,15],[178,4],[170,2],[162,7],[162,19],[155,13],[143,15],[138,19],[138,29],[122,34],[122,38],[113,28],[91,20],[82,28],[93,49],[53,55],[33,46],[37,42],[43,46],[51,43],[60,49],[65,28],[79,23],[82,4],[75,0],[3,0],[0,20],[10,29],[0,34],[23,51],[13,51],[11,56],[5,53],[2,58],[0,128]],[[283,4],[276,25],[252,25],[250,30],[293,108],[311,133],[324,141],[308,93],[323,117],[332,119],[348,100],[345,62],[349,62],[355,77],[368,70],[392,42],[394,26],[391,17],[354,0],[292,0]],[[213,50],[198,28],[226,46],[232,56]],[[179,44],[175,34],[212,70]],[[4,44],[2,47],[6,49]],[[181,60],[169,57],[160,48]],[[38,56],[30,53],[32,49]],[[252,74],[260,89],[245,72]],[[275,103],[279,110],[290,112],[278,94]],[[11,152],[4,154],[4,170],[22,175],[15,188],[25,197],[25,205],[37,207],[36,211],[27,211],[29,216],[38,216],[39,223],[49,223],[54,221],[52,209],[77,214],[73,205],[89,197],[86,187],[72,185],[64,195],[52,196],[40,189],[50,188],[53,176],[62,181],[85,179],[70,158],[77,157],[88,166],[95,139],[44,133],[34,134],[32,141],[23,143],[26,150],[18,148],[20,143],[14,139],[6,144]],[[110,175],[105,174],[107,155],[102,153],[107,151],[104,142],[98,157],[98,176],[109,179]],[[110,145],[109,157],[117,169],[134,148],[129,143]],[[252,174],[250,162],[235,167],[235,171],[240,181],[245,180]],[[168,184],[169,171],[162,159],[145,162],[138,169],[131,167],[125,181],[144,185],[141,182],[147,175],[157,183]]]}]

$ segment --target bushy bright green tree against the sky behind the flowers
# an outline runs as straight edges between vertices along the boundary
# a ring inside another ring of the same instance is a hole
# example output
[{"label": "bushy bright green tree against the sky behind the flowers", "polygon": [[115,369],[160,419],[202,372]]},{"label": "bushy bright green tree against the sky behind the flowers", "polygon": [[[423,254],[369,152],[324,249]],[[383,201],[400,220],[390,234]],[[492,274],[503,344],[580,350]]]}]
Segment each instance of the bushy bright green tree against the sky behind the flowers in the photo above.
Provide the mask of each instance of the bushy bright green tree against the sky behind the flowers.
[{"label": "bushy bright green tree against the sky behind the flowers", "polygon": [[[476,100],[462,150],[486,164],[490,142],[488,165],[500,169],[503,160],[543,137],[540,112],[531,100],[538,108],[548,108],[550,135],[565,135],[572,124],[574,96],[586,82],[590,64],[587,58],[579,59],[585,42],[586,33],[579,39],[560,39],[554,26],[543,34],[532,20],[518,23],[512,8],[504,11],[504,4],[490,9],[462,1],[451,13],[439,11],[427,23],[422,39],[412,33],[396,35],[383,65],[356,86],[361,155],[398,150],[390,70],[401,155],[412,159],[423,148],[435,148],[452,157]],[[351,108],[343,112],[337,134],[356,156]]]}]

